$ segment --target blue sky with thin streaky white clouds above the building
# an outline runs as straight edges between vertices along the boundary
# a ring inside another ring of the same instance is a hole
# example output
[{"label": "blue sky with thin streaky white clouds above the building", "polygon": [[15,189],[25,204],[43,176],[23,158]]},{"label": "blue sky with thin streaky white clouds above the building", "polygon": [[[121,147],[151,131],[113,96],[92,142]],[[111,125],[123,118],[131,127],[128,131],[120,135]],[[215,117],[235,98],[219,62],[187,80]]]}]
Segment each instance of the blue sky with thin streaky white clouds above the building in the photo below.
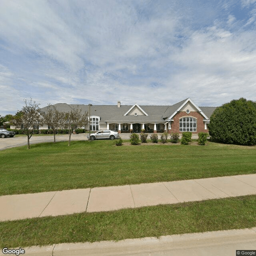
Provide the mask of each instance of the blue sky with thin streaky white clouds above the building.
[{"label": "blue sky with thin streaky white clouds above the building", "polygon": [[256,101],[256,0],[0,0],[0,115]]}]

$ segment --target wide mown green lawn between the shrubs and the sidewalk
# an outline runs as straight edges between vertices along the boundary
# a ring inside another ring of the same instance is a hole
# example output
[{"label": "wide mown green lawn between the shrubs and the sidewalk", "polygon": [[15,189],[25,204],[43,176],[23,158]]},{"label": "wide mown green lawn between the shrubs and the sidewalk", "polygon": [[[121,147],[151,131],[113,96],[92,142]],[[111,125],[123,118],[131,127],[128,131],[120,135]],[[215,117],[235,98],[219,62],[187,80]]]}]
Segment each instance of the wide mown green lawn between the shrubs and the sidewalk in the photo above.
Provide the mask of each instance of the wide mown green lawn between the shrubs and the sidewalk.
[{"label": "wide mown green lawn between the shrubs and the sidewalk", "polygon": [[113,146],[111,140],[0,151],[0,195],[256,173],[256,147],[208,142]]}]

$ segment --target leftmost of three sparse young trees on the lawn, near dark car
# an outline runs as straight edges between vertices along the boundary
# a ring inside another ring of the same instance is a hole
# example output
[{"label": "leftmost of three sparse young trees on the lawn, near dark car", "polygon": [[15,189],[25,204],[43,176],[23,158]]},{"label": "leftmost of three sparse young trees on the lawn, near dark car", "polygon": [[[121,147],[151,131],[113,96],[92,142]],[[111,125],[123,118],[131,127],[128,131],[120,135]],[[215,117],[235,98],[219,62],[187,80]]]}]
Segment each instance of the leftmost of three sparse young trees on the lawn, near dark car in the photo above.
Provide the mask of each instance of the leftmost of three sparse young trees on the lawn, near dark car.
[{"label": "leftmost of three sparse young trees on the lawn, near dark car", "polygon": [[29,140],[35,131],[38,130],[39,126],[43,125],[43,118],[40,115],[40,104],[36,104],[31,98],[29,101],[24,99],[24,103],[25,106],[16,113],[11,122],[16,128],[22,128],[24,130],[24,134],[28,138],[27,149],[29,149]]}]

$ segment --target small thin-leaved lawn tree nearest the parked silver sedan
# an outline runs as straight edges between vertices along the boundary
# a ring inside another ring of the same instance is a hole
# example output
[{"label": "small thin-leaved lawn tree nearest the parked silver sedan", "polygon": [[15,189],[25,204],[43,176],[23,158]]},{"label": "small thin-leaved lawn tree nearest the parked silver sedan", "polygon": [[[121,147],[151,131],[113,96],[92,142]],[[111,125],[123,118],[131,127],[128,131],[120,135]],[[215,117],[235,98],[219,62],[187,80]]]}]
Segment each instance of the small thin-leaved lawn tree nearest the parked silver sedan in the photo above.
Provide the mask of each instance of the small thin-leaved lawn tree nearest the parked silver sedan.
[{"label": "small thin-leaved lawn tree nearest the parked silver sedan", "polygon": [[88,112],[82,112],[82,109],[80,109],[77,105],[76,108],[72,108],[70,112],[66,112],[65,121],[65,126],[69,131],[68,146],[70,146],[71,134],[73,133],[74,129],[88,124]]}]

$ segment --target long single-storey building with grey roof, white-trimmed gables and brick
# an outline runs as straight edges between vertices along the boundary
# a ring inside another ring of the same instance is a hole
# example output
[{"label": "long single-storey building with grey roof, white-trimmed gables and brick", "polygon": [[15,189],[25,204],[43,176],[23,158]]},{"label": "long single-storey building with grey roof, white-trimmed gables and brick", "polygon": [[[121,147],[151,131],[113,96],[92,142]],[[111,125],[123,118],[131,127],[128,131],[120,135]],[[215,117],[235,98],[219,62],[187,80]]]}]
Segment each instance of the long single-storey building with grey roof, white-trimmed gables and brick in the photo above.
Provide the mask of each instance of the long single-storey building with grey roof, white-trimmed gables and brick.
[{"label": "long single-storey building with grey roof, white-trimmed gables and brick", "polygon": [[[58,103],[54,105],[57,110],[68,112],[72,107],[79,106],[83,111],[89,112],[89,106],[68,105]],[[216,107],[198,107],[190,98],[182,100],[172,106],[140,106],[135,103],[122,105],[95,105],[90,107],[90,130],[116,130],[119,133],[140,132],[208,132],[210,116]],[[47,107],[41,108],[42,112]],[[89,127],[86,126],[85,129]],[[47,125],[40,129],[48,129]]]}]

